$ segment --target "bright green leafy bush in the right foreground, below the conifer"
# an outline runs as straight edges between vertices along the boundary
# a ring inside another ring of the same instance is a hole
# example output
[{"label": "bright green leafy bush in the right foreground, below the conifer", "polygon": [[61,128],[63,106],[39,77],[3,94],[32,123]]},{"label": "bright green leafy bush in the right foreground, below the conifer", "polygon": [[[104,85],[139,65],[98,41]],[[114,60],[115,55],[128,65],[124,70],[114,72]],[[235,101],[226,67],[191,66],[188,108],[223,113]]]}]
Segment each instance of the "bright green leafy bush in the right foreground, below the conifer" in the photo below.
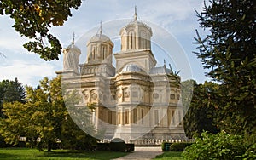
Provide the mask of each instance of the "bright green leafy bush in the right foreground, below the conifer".
[{"label": "bright green leafy bush in the right foreground, below the conifer", "polygon": [[[183,151],[183,159],[241,159],[247,152],[247,146],[241,135],[231,135],[224,132],[207,134],[203,132],[201,138]],[[252,156],[248,153],[249,156]]]}]

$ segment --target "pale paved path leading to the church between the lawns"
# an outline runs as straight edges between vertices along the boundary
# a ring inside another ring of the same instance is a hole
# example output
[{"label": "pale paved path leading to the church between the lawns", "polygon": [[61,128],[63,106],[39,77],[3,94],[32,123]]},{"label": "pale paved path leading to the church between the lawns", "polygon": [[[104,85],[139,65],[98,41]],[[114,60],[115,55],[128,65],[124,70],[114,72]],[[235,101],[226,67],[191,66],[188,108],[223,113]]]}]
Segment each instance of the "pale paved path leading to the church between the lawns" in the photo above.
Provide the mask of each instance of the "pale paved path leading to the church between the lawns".
[{"label": "pale paved path leading to the church between the lawns", "polygon": [[125,159],[152,159],[157,155],[162,154],[161,147],[135,147],[135,151],[132,151],[125,157],[119,157],[115,160],[125,160]]}]

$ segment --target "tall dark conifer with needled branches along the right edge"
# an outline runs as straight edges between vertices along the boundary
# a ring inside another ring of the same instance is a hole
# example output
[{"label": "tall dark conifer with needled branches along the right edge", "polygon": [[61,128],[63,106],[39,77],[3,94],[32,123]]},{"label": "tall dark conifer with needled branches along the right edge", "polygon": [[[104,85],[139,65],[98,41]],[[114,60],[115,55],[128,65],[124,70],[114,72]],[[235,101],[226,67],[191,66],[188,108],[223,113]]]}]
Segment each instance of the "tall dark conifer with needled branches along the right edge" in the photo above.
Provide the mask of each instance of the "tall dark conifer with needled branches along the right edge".
[{"label": "tall dark conifer with needled branches along the right edge", "polygon": [[[211,33],[195,43],[207,77],[222,83],[218,125],[229,134],[255,133],[256,7],[253,0],[213,0],[198,13]],[[220,100],[220,99],[219,99]]]}]

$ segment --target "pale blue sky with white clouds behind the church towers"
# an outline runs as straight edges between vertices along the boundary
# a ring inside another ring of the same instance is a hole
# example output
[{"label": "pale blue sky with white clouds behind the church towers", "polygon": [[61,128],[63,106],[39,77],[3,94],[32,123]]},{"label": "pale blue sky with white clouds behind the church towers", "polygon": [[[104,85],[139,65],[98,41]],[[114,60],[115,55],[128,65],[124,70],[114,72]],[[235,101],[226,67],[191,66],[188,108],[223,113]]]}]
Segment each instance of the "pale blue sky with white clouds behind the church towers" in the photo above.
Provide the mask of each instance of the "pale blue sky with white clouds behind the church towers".
[{"label": "pale blue sky with white clouds behind the church towers", "polygon": [[[206,35],[200,28],[195,9],[200,13],[203,0],[85,0],[78,10],[72,9],[72,17],[63,26],[50,29],[63,48],[72,43],[81,49],[80,64],[86,60],[86,43],[95,35],[102,21],[103,34],[114,43],[113,53],[120,49],[120,29],[132,20],[137,6],[138,20],[152,28],[152,50],[158,61],[157,66],[171,64],[174,71],[180,71],[182,80],[195,79],[198,83],[208,80],[205,77],[201,60],[193,51],[198,51],[192,44],[195,29]],[[18,78],[24,85],[36,87],[44,77],[56,77],[55,71],[63,67],[63,55],[60,60],[45,61],[38,54],[28,53],[22,45],[29,41],[20,37],[12,27],[14,20],[9,16],[0,16],[0,81]]]}]

